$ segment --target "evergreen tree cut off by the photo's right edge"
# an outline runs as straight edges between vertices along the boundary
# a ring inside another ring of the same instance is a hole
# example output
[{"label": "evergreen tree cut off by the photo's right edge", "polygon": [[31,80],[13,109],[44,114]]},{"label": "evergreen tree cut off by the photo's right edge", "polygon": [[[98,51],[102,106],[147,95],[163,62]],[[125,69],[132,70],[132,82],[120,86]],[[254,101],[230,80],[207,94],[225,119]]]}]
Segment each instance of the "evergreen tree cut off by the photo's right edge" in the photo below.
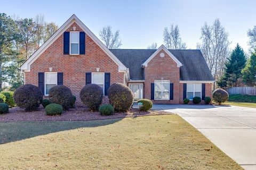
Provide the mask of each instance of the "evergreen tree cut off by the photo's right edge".
[{"label": "evergreen tree cut off by the photo's right edge", "polygon": [[247,86],[256,86],[256,49],[252,53],[243,71],[243,82]]}]

